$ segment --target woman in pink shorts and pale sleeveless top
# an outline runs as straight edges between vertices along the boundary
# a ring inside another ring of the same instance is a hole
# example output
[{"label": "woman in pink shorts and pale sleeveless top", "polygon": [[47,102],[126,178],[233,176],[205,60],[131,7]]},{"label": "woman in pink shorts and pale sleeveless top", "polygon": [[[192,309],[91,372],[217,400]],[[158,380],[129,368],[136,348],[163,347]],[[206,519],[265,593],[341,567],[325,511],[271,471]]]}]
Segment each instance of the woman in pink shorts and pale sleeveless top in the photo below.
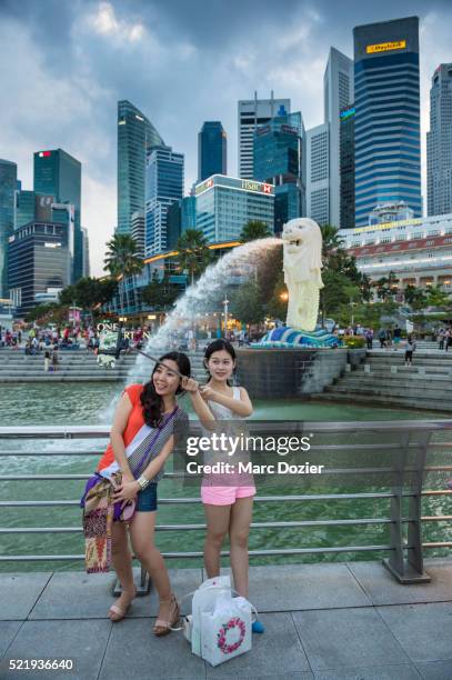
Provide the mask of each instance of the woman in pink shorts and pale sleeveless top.
[{"label": "woman in pink shorts and pale sleeveless top", "polygon": [[[242,387],[231,387],[230,378],[237,366],[235,351],[228,340],[215,340],[205,350],[204,366],[209,372],[207,386],[199,392],[204,401],[193,397],[198,391],[195,381],[190,380],[187,390],[192,396],[193,407],[201,422],[209,428],[209,420],[241,420],[252,413],[252,403]],[[255,487],[253,479],[229,479],[228,486],[217,486],[214,476],[204,477],[201,499],[204,504],[208,524],[204,543],[204,566],[209,578],[220,573],[221,548],[227,534],[230,541],[231,569],[235,590],[248,598],[248,538],[252,518]],[[234,481],[237,486],[234,486]],[[263,632],[259,621],[253,623],[253,632]]]}]

